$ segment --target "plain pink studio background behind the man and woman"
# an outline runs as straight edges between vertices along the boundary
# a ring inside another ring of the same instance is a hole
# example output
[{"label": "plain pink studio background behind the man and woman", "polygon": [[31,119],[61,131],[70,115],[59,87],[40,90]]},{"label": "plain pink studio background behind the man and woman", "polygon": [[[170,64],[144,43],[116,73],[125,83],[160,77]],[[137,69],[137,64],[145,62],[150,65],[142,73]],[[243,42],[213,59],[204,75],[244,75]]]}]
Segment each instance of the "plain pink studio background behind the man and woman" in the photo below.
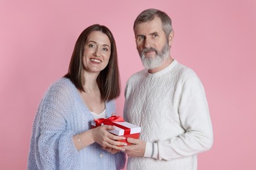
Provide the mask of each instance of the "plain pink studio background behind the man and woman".
[{"label": "plain pink studio background behind the man and woman", "polygon": [[171,54],[200,76],[214,144],[198,169],[256,169],[256,1],[0,1],[0,169],[26,169],[39,101],[63,76],[78,35],[91,24],[109,27],[117,42],[122,115],[125,82],[142,69],[133,21],[144,9],[167,12]]}]

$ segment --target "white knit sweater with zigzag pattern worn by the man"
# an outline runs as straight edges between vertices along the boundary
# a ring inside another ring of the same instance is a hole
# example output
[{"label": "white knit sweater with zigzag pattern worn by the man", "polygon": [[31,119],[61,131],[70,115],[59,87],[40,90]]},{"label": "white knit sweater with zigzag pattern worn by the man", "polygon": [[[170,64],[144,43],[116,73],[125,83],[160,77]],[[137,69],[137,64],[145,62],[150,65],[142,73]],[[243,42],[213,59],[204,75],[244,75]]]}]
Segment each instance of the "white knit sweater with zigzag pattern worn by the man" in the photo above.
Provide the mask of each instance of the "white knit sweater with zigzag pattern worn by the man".
[{"label": "white knit sweater with zigzag pattern worn by the man", "polygon": [[125,88],[124,118],[142,127],[144,157],[127,169],[197,169],[197,155],[213,144],[213,131],[200,79],[173,60],[154,74],[135,73]]}]

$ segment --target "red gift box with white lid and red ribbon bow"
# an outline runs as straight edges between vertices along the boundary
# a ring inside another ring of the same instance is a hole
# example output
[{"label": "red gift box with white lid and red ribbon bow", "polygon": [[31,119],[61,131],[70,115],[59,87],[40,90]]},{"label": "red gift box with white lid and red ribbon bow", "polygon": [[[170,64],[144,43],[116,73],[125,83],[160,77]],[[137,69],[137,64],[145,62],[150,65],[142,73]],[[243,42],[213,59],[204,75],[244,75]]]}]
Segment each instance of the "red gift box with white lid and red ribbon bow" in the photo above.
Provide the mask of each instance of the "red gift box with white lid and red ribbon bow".
[{"label": "red gift box with white lid and red ribbon bow", "polygon": [[[120,116],[111,116],[110,118],[99,118],[91,122],[92,127],[102,125],[114,126],[115,129],[109,130],[109,132],[117,136],[123,136],[126,139],[127,137],[132,137],[135,139],[139,139],[140,137],[141,127],[125,122],[125,120],[123,120],[123,118],[121,118]],[[119,142],[127,143],[129,145],[130,143],[128,143],[126,139],[119,140]]]}]

